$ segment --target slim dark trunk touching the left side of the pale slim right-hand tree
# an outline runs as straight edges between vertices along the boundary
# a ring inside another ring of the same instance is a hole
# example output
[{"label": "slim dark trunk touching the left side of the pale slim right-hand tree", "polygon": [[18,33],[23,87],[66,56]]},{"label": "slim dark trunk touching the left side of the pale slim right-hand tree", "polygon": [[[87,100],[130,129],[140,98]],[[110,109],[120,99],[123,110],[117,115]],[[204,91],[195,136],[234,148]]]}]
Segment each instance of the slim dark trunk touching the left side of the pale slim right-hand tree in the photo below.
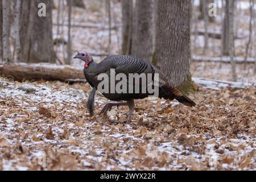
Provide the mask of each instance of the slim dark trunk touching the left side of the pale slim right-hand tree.
[{"label": "slim dark trunk touching the left side of the pale slim right-hand tree", "polygon": [[225,1],[224,21],[222,24],[222,54],[229,55],[229,1]]}]

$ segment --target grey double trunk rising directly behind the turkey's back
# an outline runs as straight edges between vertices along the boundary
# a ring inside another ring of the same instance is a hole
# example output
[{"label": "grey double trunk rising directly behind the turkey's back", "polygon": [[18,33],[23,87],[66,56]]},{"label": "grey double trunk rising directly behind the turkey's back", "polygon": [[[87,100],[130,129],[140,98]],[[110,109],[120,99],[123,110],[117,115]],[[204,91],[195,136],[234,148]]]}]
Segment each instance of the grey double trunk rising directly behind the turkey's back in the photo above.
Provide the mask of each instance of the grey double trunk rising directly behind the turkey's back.
[{"label": "grey double trunk rising directly behind the turkey's back", "polygon": [[155,46],[154,0],[122,0],[122,53],[152,62]]}]

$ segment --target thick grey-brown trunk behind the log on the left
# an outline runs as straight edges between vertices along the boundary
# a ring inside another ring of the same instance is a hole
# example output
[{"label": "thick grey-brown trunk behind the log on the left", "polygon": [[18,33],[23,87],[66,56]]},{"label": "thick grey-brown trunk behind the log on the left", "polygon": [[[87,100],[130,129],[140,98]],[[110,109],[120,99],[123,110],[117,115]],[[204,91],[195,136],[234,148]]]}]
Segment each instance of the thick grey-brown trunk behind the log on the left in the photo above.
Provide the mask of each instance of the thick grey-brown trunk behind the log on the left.
[{"label": "thick grey-brown trunk behind the log on the left", "polygon": [[[46,17],[38,15],[39,3],[46,4]],[[52,40],[52,0],[22,2],[20,16],[22,61],[26,63],[55,62]]]}]

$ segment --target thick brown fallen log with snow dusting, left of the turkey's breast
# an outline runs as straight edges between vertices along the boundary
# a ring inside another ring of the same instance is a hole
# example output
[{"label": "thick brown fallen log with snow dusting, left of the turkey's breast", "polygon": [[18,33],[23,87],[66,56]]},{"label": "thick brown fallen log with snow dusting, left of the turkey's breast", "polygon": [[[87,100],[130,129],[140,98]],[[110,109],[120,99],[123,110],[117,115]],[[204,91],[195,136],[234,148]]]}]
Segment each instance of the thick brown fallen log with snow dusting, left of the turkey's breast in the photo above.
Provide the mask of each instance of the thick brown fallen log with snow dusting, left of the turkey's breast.
[{"label": "thick brown fallen log with snow dusting, left of the turkey's breast", "polygon": [[77,79],[85,80],[82,68],[48,63],[0,64],[0,76],[13,78],[16,81],[43,79],[72,82]]}]

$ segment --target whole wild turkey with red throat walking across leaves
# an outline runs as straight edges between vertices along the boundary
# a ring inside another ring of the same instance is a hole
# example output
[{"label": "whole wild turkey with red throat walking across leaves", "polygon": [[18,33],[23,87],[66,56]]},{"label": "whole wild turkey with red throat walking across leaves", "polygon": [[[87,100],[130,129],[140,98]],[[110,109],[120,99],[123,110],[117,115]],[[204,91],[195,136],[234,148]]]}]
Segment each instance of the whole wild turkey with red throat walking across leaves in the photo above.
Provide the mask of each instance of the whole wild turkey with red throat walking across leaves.
[{"label": "whole wild turkey with red throat walking across leaves", "polygon": [[[93,115],[93,104],[94,104],[94,94],[98,88],[98,85],[100,84],[101,80],[98,80],[98,76],[101,73],[106,73],[106,75],[109,76],[110,79],[110,69],[114,69],[115,73],[123,73],[127,77],[129,77],[129,73],[138,73],[140,75],[141,73],[151,73],[154,75],[155,73],[158,73],[158,77],[152,77],[151,81],[157,80],[159,82],[159,98],[174,100],[181,102],[181,104],[184,104],[186,106],[195,106],[195,102],[193,102],[191,99],[189,99],[187,96],[185,96],[183,93],[181,93],[176,88],[172,87],[171,84],[169,84],[166,76],[154,65],[151,65],[147,61],[144,61],[142,59],[139,59],[137,57],[128,56],[128,55],[116,55],[116,56],[109,56],[106,57],[104,60],[102,60],[100,63],[95,63],[93,61],[92,56],[90,56],[87,52],[77,52],[77,55],[74,57],[74,59],[80,59],[85,62],[84,64],[84,75],[86,80],[89,82],[90,86],[92,86],[92,92],[89,95],[88,98],[88,110],[90,115]],[[111,81],[111,80],[109,80]],[[129,80],[126,80],[128,87],[131,86]],[[114,82],[114,84],[117,84],[117,81]],[[140,82],[141,84],[141,82]],[[133,88],[136,89],[136,86],[133,85]],[[111,88],[110,88],[111,89]],[[138,89],[138,88],[137,88]],[[142,88],[139,88],[139,90],[142,90]],[[134,91],[134,90],[133,90]],[[134,99],[141,99],[146,98],[152,93],[146,92],[146,93],[135,93],[135,92],[126,92],[126,93],[110,93],[110,92],[102,92],[102,94],[112,101],[127,101],[127,102],[109,102],[109,104],[106,104],[102,110],[100,111],[99,115],[106,114],[108,110],[111,110],[113,106],[129,106],[129,114],[127,118],[127,124],[129,124],[131,120],[131,115],[133,114],[134,110]]]}]

